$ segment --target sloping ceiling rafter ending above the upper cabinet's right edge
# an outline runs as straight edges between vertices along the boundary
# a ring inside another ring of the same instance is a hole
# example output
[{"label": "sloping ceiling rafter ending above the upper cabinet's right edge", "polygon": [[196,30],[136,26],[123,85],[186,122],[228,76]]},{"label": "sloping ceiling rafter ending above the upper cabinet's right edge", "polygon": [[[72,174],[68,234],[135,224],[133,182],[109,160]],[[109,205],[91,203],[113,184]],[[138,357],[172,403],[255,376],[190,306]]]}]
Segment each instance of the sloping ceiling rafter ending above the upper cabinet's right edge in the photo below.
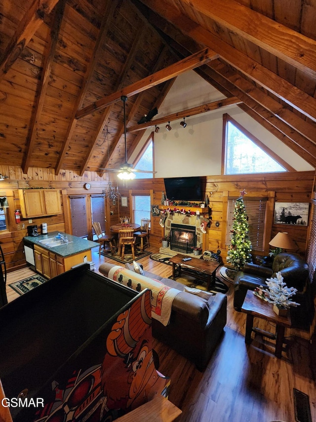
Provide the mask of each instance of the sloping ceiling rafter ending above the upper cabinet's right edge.
[{"label": "sloping ceiling rafter ending above the upper cabinet's right edge", "polygon": [[[59,153],[59,157],[58,157],[58,160],[57,160],[57,163],[56,163],[56,167],[55,167],[55,175],[56,176],[58,175],[59,171],[62,168],[65,154],[68,150],[69,143],[71,141],[74,130],[76,128],[76,124],[77,124],[76,113],[77,113],[77,110],[80,107],[82,107],[84,97],[85,97],[87,90],[88,90],[88,85],[89,85],[89,83],[92,79],[93,72],[94,72],[94,69],[95,69],[95,66],[96,66],[96,63],[97,63],[97,58],[98,58],[99,54],[101,53],[102,47],[103,47],[105,40],[107,38],[107,34],[108,34],[108,30],[109,30],[109,27],[110,27],[110,24],[111,24],[111,20],[112,20],[112,17],[113,17],[113,14],[115,12],[117,5],[118,5],[118,0],[114,0],[114,1],[108,0],[108,2],[107,2],[106,10],[105,10],[104,17],[103,17],[103,20],[102,20],[102,23],[101,23],[101,26],[100,26],[99,34],[98,34],[98,39],[96,40],[94,50],[93,50],[93,53],[92,53],[92,57],[91,57],[89,66],[87,68],[87,72],[86,72],[86,74],[83,78],[82,85],[81,85],[81,88],[80,88],[80,92],[77,96],[75,105],[73,107],[72,115],[71,115],[70,120],[69,120],[68,129],[67,129],[67,132],[66,132],[66,135],[65,135],[65,141],[64,141],[63,147],[62,147],[62,149]],[[82,167],[81,167],[81,169],[82,169]]]}]

